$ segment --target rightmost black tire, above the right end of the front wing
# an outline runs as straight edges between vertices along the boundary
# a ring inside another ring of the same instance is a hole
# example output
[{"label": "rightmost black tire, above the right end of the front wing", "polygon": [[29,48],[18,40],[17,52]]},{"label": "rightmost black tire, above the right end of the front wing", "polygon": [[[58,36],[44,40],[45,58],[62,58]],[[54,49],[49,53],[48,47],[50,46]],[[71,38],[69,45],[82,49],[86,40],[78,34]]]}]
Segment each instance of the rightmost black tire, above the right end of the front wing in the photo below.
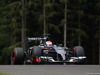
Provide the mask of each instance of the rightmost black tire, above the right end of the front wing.
[{"label": "rightmost black tire, above the right end of the front wing", "polygon": [[75,46],[75,47],[73,48],[73,50],[74,50],[74,55],[75,55],[76,57],[85,56],[84,49],[83,49],[82,46]]}]

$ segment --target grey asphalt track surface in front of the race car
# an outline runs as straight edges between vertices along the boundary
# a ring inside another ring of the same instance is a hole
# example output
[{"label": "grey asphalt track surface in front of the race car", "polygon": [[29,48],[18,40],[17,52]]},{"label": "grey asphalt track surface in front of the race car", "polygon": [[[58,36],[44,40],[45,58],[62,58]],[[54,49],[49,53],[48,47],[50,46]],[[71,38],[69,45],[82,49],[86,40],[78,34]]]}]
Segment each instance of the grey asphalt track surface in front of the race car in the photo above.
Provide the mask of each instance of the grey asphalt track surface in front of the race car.
[{"label": "grey asphalt track surface in front of the race car", "polygon": [[1,65],[11,75],[100,75],[100,65]]}]

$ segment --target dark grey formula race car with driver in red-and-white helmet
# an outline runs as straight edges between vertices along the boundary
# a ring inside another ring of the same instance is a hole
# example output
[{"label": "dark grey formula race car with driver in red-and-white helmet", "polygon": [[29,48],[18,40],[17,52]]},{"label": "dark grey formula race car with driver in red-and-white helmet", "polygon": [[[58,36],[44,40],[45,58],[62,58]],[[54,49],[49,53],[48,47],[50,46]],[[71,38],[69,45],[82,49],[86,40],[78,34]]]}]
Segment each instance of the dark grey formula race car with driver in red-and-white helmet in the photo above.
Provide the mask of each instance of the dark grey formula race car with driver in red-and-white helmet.
[{"label": "dark grey formula race car with driver in red-and-white helmet", "polygon": [[39,63],[85,63],[86,56],[82,46],[72,49],[62,47],[61,44],[53,45],[48,37],[28,38],[28,41],[39,41],[38,46],[29,47],[27,51],[16,47],[12,50],[12,64],[39,64]]}]

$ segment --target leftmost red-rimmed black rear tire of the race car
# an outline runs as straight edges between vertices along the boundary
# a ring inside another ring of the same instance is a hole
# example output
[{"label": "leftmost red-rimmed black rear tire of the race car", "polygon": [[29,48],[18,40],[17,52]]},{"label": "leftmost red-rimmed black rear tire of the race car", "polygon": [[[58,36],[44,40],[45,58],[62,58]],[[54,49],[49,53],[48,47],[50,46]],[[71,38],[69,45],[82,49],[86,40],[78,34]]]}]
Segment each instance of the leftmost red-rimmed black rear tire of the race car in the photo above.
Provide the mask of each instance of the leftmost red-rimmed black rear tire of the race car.
[{"label": "leftmost red-rimmed black rear tire of the race car", "polygon": [[23,48],[14,48],[11,55],[11,64],[22,65],[24,63],[24,50]]}]

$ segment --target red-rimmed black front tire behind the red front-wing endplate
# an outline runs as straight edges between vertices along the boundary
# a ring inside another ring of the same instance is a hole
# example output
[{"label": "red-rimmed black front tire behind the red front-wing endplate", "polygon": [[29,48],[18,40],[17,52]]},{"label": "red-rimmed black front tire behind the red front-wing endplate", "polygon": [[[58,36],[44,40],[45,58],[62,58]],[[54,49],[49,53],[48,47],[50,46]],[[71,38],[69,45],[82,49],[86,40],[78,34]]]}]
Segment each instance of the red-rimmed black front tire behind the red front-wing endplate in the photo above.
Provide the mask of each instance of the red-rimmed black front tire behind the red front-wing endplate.
[{"label": "red-rimmed black front tire behind the red front-wing endplate", "polygon": [[34,46],[31,53],[31,64],[39,63],[39,57],[42,55],[41,47]]}]

